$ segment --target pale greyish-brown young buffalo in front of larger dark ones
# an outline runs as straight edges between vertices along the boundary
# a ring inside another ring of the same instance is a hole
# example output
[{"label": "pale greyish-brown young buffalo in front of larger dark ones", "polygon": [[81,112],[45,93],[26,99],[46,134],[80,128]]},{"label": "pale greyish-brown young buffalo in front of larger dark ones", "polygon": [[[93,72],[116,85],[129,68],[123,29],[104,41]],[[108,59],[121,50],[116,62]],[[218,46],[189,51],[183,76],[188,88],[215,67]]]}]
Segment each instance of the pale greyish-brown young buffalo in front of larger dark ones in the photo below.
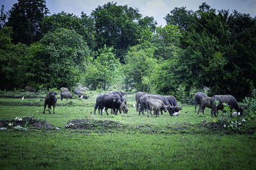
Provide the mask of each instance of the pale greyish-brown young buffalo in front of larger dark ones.
[{"label": "pale greyish-brown young buffalo in front of larger dark ones", "polygon": [[[166,106],[163,101],[159,100],[159,99],[148,99],[147,100],[147,111],[150,112],[151,117],[153,117],[152,115],[152,110],[154,110],[154,115],[156,115],[156,117],[159,117],[159,111],[161,109],[163,109],[164,111],[167,111],[168,106]],[[149,115],[148,115],[149,117]]]}]

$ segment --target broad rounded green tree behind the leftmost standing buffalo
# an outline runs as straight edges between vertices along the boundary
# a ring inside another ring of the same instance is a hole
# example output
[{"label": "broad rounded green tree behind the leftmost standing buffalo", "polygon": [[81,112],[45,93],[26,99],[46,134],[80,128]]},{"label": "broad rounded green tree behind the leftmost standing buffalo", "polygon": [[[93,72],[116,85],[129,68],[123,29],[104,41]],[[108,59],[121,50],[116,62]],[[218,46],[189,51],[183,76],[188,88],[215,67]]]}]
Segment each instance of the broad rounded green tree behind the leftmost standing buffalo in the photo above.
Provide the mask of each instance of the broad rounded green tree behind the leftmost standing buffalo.
[{"label": "broad rounded green tree behind the leftmost standing buffalo", "polygon": [[31,81],[27,83],[38,84],[33,78],[36,76],[47,89],[72,89],[81,80],[89,53],[86,42],[76,31],[56,29],[48,32],[40,43],[29,47],[26,62],[31,66],[27,66],[26,75]]}]

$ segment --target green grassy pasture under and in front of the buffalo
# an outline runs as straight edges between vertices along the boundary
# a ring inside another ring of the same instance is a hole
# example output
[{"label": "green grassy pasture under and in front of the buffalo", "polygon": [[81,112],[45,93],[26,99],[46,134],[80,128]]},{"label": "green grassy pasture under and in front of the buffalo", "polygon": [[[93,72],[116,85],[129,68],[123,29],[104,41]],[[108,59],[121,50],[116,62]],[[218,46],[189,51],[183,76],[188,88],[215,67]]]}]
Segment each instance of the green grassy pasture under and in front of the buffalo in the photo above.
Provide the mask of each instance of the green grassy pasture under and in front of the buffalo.
[{"label": "green grassy pasture under and in front of the buffalo", "polygon": [[[16,93],[17,94],[17,93]],[[11,94],[0,98],[0,120],[34,117],[54,128],[0,131],[1,169],[253,169],[256,167],[255,120],[224,128],[211,117],[185,105],[170,117],[138,116],[135,94],[127,95],[127,114],[93,114],[99,92],[88,100],[60,100],[56,115],[44,110],[44,96]],[[20,97],[21,96],[21,97]],[[16,98],[13,98],[16,97]],[[181,105],[179,103],[179,105]],[[110,113],[110,110],[108,110]],[[68,122],[76,124],[68,126]],[[240,117],[232,121],[241,122]],[[216,122],[216,123],[214,123]],[[56,129],[58,127],[58,130]],[[66,128],[67,127],[67,128]]]}]

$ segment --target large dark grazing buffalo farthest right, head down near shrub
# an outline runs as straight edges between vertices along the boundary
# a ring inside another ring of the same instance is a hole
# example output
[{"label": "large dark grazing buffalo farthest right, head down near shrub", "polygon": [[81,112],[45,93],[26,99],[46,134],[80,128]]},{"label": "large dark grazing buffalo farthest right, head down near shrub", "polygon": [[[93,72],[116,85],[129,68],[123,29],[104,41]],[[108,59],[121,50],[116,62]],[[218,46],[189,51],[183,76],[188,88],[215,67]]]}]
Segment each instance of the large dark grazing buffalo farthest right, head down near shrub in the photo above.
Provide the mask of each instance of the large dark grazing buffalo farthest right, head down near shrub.
[{"label": "large dark grazing buffalo farthest right, head down near shrub", "polygon": [[[216,106],[214,104],[214,101],[219,101],[219,105]],[[237,112],[240,112],[240,115],[243,114],[243,106],[240,106],[236,98],[234,96],[231,96],[229,94],[227,95],[214,95],[210,99],[211,103],[211,116],[213,117],[213,114],[215,117],[216,113],[218,115],[218,110],[221,110],[223,112],[223,103],[227,103],[230,106],[230,113],[232,113],[232,110],[235,109]],[[230,114],[230,117],[232,117],[232,114]]]}]

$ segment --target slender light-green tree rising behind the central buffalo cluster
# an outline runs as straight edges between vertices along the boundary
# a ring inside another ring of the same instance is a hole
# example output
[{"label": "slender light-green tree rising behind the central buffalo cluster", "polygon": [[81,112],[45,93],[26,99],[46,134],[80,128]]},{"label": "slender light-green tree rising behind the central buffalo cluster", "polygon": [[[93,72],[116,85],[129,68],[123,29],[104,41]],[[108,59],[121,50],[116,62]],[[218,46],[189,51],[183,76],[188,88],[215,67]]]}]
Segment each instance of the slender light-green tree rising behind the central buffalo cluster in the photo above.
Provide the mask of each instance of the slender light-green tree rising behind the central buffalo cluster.
[{"label": "slender light-green tree rising behind the central buffalo cluster", "polygon": [[88,64],[87,71],[84,74],[83,84],[92,90],[106,90],[109,85],[113,84],[119,76],[118,67],[119,59],[115,59],[113,47],[99,49],[95,53],[96,58]]}]

